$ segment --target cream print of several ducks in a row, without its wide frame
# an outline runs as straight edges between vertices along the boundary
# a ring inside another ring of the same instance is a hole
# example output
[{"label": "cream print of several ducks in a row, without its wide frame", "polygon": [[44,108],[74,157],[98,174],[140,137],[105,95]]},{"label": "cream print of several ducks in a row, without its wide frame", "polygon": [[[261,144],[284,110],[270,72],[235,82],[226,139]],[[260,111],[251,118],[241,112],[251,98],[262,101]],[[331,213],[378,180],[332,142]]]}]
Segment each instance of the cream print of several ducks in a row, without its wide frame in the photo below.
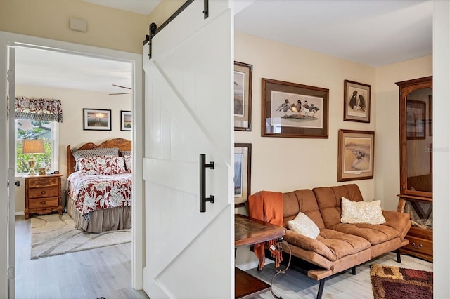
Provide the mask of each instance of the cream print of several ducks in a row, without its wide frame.
[{"label": "cream print of several ducks in a row, without its wide frame", "polygon": [[272,125],[322,128],[323,98],[272,91]]}]

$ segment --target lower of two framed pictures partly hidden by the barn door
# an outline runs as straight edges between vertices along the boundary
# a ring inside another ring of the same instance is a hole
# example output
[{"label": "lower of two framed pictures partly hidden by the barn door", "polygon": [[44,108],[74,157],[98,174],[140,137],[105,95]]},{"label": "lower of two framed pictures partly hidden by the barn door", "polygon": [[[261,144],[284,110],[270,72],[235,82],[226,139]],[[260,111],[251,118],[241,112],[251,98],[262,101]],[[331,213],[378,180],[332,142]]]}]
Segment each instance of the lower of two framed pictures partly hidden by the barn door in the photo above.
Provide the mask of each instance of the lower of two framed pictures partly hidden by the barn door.
[{"label": "lower of two framed pictures partly hidden by the barn door", "polygon": [[234,144],[234,206],[245,206],[250,196],[252,169],[251,143]]}]

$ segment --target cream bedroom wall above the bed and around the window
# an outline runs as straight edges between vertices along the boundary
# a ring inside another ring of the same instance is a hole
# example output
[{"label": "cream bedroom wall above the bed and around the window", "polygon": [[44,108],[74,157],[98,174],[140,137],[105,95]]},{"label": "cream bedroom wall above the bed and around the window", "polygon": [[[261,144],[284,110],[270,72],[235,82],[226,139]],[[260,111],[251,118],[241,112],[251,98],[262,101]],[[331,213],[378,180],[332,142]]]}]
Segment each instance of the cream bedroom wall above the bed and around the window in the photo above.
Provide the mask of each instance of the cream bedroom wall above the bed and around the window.
[{"label": "cream bedroom wall above the bed and around the window", "polygon": [[[15,85],[17,96],[53,98],[61,100],[63,105],[63,122],[59,125],[59,171],[63,174],[62,189],[65,190],[67,171],[67,146],[79,147],[86,142],[99,144],[112,138],[125,138],[131,140],[132,133],[120,131],[120,110],[131,111],[131,95],[108,95],[95,91],[77,91],[63,88],[47,88],[41,86]],[[110,109],[111,131],[84,131],[83,108]],[[15,187],[15,212],[23,213],[25,210],[25,183]]]}]

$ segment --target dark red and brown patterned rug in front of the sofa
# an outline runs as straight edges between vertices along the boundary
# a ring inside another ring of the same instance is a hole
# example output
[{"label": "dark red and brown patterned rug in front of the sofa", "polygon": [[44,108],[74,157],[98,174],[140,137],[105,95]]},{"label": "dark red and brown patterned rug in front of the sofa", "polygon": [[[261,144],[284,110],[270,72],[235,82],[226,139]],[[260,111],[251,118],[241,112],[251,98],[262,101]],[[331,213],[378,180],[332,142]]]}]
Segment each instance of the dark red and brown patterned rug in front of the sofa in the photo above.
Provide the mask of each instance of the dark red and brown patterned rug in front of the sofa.
[{"label": "dark red and brown patterned rug in front of the sofa", "polygon": [[371,265],[373,298],[433,298],[433,272]]}]

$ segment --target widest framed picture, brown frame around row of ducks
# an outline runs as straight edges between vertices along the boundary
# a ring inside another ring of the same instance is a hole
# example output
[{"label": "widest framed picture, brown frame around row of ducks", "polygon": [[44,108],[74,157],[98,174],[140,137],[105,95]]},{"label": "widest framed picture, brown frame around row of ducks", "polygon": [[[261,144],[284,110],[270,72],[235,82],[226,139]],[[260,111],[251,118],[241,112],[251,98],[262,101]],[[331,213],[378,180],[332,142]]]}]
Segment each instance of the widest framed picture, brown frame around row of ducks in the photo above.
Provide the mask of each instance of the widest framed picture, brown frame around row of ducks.
[{"label": "widest framed picture, brown frame around row of ducks", "polygon": [[265,137],[328,138],[329,90],[262,79],[262,130]]}]

